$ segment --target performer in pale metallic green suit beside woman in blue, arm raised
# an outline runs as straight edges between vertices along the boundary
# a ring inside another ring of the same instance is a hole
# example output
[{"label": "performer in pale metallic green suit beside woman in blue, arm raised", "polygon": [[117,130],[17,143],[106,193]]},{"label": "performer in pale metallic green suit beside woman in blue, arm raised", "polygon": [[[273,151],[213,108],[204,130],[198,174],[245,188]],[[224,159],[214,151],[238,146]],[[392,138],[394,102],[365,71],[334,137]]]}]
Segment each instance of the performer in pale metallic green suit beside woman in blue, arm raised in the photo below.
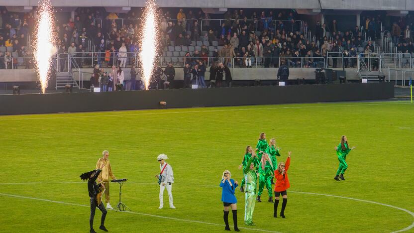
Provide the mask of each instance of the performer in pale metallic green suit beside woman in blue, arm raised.
[{"label": "performer in pale metallic green suit beside woman in blue, arm raised", "polygon": [[[251,147],[250,147],[251,148]],[[243,168],[245,184],[245,206],[244,206],[244,223],[247,226],[254,226],[253,223],[253,211],[256,204],[256,181],[257,181],[257,172],[254,161],[257,160],[257,155],[253,152],[249,161],[246,163],[246,166]]]}]

